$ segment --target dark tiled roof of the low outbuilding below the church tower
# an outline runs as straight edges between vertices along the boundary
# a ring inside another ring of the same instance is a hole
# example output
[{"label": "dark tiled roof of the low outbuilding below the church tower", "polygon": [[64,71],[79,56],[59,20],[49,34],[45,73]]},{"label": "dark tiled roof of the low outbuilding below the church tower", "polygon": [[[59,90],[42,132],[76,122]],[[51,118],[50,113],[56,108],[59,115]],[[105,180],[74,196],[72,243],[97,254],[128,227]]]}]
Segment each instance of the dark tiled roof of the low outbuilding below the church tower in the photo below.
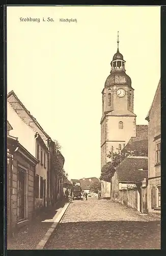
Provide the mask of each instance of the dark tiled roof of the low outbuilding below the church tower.
[{"label": "dark tiled roof of the low outbuilding below the church tower", "polygon": [[[141,170],[143,169],[143,170]],[[148,177],[148,157],[126,157],[117,167],[119,182],[135,182]]]}]

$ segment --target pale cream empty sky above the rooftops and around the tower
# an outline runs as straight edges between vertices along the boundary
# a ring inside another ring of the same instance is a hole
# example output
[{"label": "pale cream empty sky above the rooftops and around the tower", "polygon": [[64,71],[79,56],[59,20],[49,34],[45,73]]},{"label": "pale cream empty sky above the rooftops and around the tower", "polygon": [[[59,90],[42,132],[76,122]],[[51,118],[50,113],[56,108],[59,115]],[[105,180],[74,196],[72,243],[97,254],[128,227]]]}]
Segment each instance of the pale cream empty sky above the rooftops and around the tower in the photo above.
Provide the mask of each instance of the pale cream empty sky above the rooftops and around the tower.
[{"label": "pale cream empty sky above the rooftops and around the tower", "polygon": [[[27,17],[40,22],[20,21]],[[7,7],[7,91],[59,141],[69,179],[100,177],[101,92],[117,31],[136,124],[148,124],[160,79],[160,7]]]}]

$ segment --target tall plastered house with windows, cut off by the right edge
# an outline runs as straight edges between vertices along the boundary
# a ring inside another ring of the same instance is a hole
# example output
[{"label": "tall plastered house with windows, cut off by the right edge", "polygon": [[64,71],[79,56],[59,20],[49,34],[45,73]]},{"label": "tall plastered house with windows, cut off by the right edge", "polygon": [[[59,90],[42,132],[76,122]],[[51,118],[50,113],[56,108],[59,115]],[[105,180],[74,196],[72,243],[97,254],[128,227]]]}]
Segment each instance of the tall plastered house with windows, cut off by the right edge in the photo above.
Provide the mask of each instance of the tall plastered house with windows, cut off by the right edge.
[{"label": "tall plastered house with windows, cut off by the right edge", "polygon": [[146,117],[149,126],[148,212],[161,209],[161,81]]}]

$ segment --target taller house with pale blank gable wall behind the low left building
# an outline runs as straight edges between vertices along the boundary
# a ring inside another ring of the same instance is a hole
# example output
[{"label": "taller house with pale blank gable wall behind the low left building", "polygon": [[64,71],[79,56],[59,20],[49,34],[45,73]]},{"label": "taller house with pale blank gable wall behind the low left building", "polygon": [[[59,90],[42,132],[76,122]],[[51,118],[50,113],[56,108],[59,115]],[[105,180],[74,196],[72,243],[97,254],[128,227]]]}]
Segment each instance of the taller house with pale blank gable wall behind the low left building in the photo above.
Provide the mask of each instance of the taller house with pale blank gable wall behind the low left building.
[{"label": "taller house with pale blank gable wall behind the low left building", "polygon": [[[14,127],[11,135],[19,135],[22,145],[38,159],[35,178],[36,209],[53,204],[63,194],[62,178],[57,176],[57,167],[53,166],[53,156],[57,154],[55,143],[13,91],[8,94],[7,101],[8,120]],[[60,162],[63,166],[64,157],[60,155]]]}]

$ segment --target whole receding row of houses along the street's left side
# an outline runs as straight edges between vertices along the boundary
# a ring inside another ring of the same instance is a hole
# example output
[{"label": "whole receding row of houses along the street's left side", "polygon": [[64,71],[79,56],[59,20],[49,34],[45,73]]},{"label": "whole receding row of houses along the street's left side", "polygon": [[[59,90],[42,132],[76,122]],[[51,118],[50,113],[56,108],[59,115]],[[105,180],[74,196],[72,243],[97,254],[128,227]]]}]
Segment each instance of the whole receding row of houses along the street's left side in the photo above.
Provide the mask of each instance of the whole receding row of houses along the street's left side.
[{"label": "whole receding row of houses along the street's left side", "polygon": [[7,95],[8,234],[63,196],[65,159],[17,95]]}]

